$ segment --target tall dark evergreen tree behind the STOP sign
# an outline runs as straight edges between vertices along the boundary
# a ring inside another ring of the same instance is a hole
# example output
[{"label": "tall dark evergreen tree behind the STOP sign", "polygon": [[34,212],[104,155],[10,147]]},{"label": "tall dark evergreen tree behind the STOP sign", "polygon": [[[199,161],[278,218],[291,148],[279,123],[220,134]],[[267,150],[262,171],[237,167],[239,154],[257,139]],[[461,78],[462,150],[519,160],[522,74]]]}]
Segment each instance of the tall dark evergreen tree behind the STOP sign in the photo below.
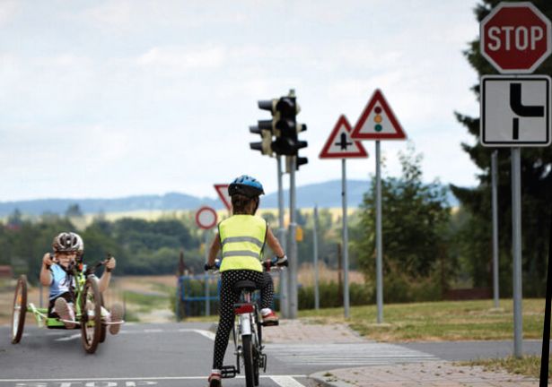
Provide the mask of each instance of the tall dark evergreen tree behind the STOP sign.
[{"label": "tall dark evergreen tree behind the STOP sign", "polygon": [[[499,0],[483,0],[475,9],[478,22],[481,22],[491,11]],[[548,0],[532,1],[539,10],[552,19],[552,3]],[[479,40],[469,43],[469,48],[464,53],[469,64],[480,74],[497,73],[494,67],[489,64],[479,52]],[[552,75],[552,58],[539,66],[535,73]],[[475,85],[474,90],[479,99],[479,86]],[[492,250],[490,249],[490,221],[491,221],[491,176],[490,160],[491,153],[495,150],[485,148],[479,143],[479,118],[464,116],[456,113],[462,125],[465,125],[469,133],[477,142],[475,145],[462,143],[462,148],[470,159],[478,166],[481,173],[478,175],[479,185],[476,188],[466,188],[451,185],[452,192],[459,198],[462,206],[471,213],[472,219],[466,223],[469,227],[469,234],[472,241],[478,244],[471,246],[471,254],[478,256],[478,259],[490,262]],[[501,252],[510,252],[512,249],[512,186],[510,183],[510,150],[498,150],[498,213],[499,213],[499,236]],[[522,227],[522,270],[523,288],[527,296],[543,296],[546,283],[547,267],[547,245],[549,235],[549,219],[552,208],[549,205],[550,189],[552,188],[552,151],[548,148],[524,148],[521,151],[521,227]],[[488,241],[488,243],[480,243]],[[468,241],[469,243],[469,241]],[[510,254],[503,254],[502,259],[509,262],[501,271],[501,282],[511,277]],[[490,285],[490,265],[485,265],[486,272],[473,272],[478,277],[479,285]],[[484,270],[478,268],[478,270]],[[501,287],[501,292],[507,294],[509,289]]]}]

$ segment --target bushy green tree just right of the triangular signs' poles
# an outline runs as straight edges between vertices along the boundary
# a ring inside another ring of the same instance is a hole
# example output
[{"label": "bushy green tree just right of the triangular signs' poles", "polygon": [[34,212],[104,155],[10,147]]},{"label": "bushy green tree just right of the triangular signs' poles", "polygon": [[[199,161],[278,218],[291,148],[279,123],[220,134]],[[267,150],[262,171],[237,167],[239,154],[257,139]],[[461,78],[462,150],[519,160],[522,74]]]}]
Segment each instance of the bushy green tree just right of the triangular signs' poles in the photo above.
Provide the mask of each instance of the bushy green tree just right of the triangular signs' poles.
[{"label": "bushy green tree just right of the triangular signs' poles", "polygon": [[[438,181],[423,183],[422,156],[415,154],[412,144],[399,159],[402,175],[381,180],[383,273],[388,280],[400,276],[403,280],[427,279],[442,268],[446,256],[451,210],[447,190]],[[364,236],[353,240],[353,248],[369,281],[375,277],[375,184],[372,178],[372,191],[364,195],[361,206],[359,229],[352,233]],[[405,294],[398,300],[409,299],[411,295]]]}]

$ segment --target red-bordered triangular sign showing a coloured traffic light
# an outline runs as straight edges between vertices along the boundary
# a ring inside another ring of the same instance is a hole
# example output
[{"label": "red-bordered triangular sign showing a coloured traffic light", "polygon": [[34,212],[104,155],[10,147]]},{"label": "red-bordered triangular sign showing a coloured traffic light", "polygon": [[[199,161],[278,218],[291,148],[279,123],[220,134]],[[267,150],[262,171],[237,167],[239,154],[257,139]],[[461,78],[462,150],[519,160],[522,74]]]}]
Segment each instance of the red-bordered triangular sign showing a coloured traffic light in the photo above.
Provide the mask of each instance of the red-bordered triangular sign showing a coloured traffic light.
[{"label": "red-bordered triangular sign showing a coloured traffic light", "polygon": [[381,90],[374,91],[351,133],[355,140],[404,140],[407,134],[393,114]]}]

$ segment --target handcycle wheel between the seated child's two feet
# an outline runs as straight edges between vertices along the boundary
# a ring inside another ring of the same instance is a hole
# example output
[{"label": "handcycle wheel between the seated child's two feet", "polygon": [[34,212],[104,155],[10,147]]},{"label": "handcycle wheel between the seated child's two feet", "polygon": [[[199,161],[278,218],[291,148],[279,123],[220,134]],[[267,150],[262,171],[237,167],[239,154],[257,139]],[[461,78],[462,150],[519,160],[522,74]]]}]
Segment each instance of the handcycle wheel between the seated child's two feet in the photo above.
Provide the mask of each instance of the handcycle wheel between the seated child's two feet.
[{"label": "handcycle wheel between the seated child's two feet", "polygon": [[80,306],[83,347],[86,352],[94,353],[101,339],[101,293],[95,277],[86,279]]}]

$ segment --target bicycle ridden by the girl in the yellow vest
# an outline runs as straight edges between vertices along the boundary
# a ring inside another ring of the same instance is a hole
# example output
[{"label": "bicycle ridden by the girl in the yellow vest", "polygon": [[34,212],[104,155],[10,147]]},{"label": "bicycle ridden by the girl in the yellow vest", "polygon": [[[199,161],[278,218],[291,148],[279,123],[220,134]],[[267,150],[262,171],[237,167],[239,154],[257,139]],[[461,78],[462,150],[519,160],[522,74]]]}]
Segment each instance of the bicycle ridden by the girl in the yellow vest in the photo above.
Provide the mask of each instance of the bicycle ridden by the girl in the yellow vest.
[{"label": "bicycle ridden by the girl in the yellow vest", "polygon": [[[285,261],[276,264],[277,258],[264,261],[265,271],[282,270],[288,265]],[[218,264],[218,266],[217,266]],[[218,272],[220,262],[215,263],[215,270]],[[263,353],[262,327],[278,325],[278,323],[264,323],[260,314],[258,303],[253,300],[255,291],[258,290],[255,282],[241,280],[234,285],[234,291],[240,293],[240,301],[234,304],[234,324],[232,326],[232,340],[234,344],[234,355],[236,366],[223,366],[221,377],[223,379],[234,378],[241,374],[240,364],[243,364],[245,373],[245,384],[247,387],[258,386],[259,370],[267,372],[267,355]]]}]

